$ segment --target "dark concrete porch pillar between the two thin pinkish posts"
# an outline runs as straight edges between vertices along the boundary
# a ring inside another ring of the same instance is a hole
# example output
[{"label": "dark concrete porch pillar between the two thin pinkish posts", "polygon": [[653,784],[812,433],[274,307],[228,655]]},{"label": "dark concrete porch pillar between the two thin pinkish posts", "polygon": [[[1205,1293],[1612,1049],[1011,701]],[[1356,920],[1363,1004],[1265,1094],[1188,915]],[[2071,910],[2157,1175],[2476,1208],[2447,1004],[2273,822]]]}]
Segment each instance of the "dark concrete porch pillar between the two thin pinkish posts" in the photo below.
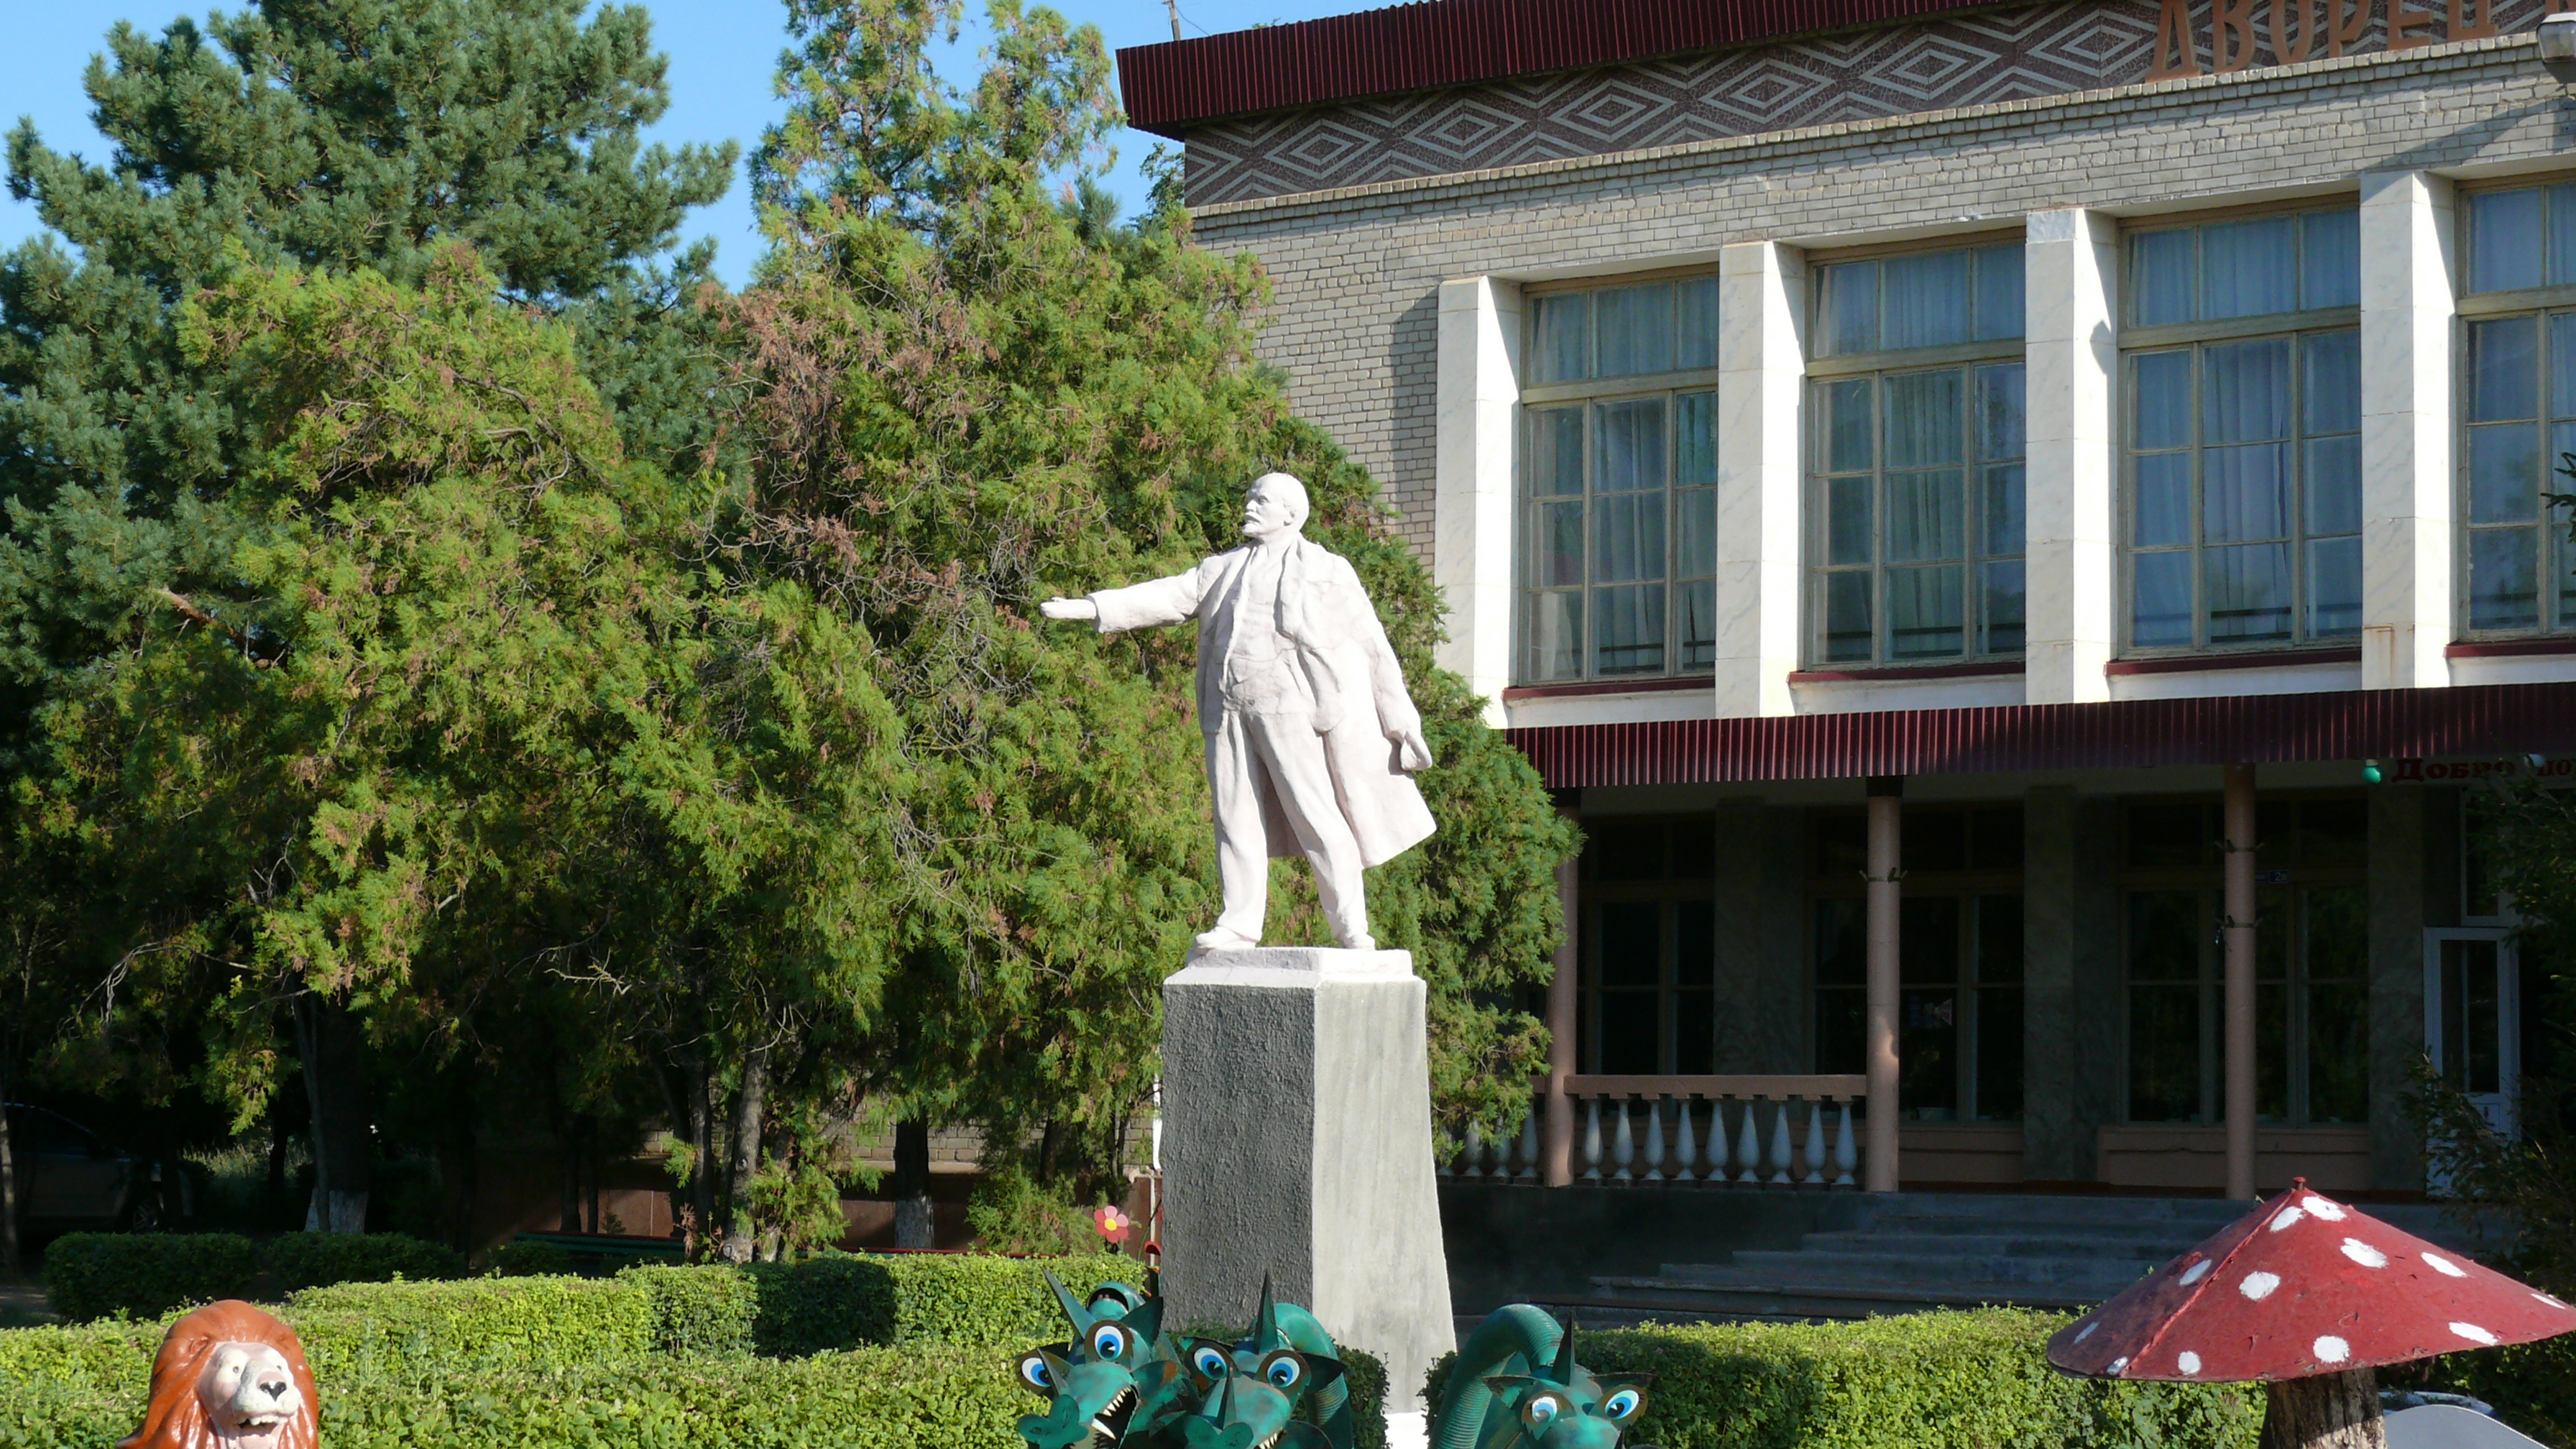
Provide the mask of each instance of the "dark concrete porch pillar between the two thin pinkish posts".
[{"label": "dark concrete porch pillar between the two thin pinkish posts", "polygon": [[2076,1181],[2076,792],[2022,797],[2022,1176]]}]

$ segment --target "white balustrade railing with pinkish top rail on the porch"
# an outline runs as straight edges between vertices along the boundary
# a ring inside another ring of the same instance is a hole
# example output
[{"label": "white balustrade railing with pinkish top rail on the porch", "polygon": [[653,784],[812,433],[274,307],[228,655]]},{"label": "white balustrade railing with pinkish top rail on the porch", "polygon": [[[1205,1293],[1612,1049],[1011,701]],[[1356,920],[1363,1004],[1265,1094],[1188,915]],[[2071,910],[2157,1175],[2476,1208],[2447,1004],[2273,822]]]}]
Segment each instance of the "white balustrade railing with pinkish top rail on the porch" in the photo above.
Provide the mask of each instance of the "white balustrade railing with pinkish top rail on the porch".
[{"label": "white balustrade railing with pinkish top rail on the porch", "polygon": [[[1713,1183],[1847,1189],[1860,1165],[1862,1075],[1569,1075],[1574,1186]],[[1440,1176],[1543,1181],[1546,1085],[1520,1132],[1468,1124]]]}]

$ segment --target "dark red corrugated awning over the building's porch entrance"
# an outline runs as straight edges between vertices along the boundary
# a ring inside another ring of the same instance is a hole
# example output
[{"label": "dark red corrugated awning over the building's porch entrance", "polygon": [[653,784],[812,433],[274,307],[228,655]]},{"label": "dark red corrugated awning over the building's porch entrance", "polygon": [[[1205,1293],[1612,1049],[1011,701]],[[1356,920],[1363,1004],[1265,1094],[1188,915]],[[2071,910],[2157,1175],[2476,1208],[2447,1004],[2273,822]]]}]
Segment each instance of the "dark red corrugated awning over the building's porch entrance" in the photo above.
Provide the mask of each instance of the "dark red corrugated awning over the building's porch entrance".
[{"label": "dark red corrugated awning over the building's porch entrance", "polygon": [[1553,789],[2576,753],[2576,683],[1512,730]]}]

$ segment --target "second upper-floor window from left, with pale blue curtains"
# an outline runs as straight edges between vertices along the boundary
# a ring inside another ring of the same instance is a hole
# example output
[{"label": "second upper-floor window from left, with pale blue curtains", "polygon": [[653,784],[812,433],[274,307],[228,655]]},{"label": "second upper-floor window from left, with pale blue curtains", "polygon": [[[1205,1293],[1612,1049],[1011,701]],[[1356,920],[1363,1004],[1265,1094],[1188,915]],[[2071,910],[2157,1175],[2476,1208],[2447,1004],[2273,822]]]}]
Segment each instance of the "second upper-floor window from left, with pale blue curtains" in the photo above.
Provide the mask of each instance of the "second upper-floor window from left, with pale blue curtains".
[{"label": "second upper-floor window from left, with pale blue curtains", "polygon": [[2022,248],[1816,278],[1811,657],[2022,650]]}]

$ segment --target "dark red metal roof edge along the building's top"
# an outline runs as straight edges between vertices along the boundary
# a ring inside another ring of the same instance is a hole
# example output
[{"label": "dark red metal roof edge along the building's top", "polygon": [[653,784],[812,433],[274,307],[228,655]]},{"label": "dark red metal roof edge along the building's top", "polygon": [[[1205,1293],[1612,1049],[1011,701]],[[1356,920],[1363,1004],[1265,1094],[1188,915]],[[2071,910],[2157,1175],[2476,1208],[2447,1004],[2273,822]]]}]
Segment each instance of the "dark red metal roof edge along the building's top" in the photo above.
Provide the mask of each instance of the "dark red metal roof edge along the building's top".
[{"label": "dark red metal roof edge along the building's top", "polygon": [[1128,124],[1195,124],[2035,0],[1417,0],[1118,52]]}]

